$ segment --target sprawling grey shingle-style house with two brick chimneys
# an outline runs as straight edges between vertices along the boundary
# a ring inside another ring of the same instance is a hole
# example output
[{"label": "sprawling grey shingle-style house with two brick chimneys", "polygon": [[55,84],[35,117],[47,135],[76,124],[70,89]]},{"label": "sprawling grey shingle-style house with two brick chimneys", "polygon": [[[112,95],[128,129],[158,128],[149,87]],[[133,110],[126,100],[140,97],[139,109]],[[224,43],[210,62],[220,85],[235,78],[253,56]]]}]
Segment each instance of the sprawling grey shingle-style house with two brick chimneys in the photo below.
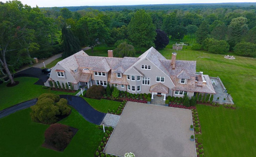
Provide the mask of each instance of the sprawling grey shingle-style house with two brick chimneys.
[{"label": "sprawling grey shingle-style house with two brick chimneys", "polygon": [[59,61],[50,74],[49,81],[60,84],[72,84],[74,89],[93,84],[116,86],[119,90],[129,93],[152,93],[156,95],[178,96],[184,94],[193,96],[194,93],[215,94],[208,75],[196,73],[196,61],[176,60],[172,53],[171,60],[166,59],[154,47],[139,57],[109,57],[88,56],[79,51],[72,56]]}]

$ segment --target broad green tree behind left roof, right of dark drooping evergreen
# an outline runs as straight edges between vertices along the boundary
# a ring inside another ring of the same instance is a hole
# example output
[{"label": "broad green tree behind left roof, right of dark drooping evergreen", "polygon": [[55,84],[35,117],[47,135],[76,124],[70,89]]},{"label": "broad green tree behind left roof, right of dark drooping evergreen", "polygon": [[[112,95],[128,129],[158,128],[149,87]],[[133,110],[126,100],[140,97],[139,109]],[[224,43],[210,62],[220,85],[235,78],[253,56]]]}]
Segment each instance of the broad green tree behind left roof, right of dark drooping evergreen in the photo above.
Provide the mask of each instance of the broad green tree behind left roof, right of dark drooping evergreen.
[{"label": "broad green tree behind left roof, right of dark drooping evergreen", "polygon": [[78,20],[76,34],[78,35],[81,44],[88,45],[93,52],[93,48],[96,45],[107,39],[109,36],[109,29],[104,25],[102,20],[83,16]]}]

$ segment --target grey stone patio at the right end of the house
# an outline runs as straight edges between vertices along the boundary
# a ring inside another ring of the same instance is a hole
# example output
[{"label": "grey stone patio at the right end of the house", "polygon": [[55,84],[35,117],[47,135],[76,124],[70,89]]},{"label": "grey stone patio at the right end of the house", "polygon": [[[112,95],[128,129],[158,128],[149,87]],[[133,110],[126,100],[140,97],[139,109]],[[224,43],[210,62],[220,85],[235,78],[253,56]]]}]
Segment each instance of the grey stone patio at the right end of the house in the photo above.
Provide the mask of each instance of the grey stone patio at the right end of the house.
[{"label": "grey stone patio at the right end of the house", "polygon": [[[228,95],[227,90],[224,86],[224,84],[222,83],[220,78],[215,78],[215,77],[209,77],[210,79],[213,79],[214,82],[216,83],[215,85],[213,84],[213,88],[216,92],[216,94],[213,96],[213,102],[216,103],[230,103],[230,104],[234,104],[232,97],[230,95]],[[228,96],[228,97],[227,97]],[[219,100],[217,100],[217,98],[220,98]],[[223,99],[226,98],[225,102],[223,101]]]}]

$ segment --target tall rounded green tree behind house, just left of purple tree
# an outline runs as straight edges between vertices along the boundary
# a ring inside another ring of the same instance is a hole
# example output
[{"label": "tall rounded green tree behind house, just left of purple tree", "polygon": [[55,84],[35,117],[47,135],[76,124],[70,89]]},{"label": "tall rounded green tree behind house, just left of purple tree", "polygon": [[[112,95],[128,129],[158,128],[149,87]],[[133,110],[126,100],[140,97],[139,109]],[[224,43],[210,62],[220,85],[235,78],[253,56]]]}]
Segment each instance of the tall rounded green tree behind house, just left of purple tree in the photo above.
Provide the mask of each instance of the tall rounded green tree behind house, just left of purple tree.
[{"label": "tall rounded green tree behind house, just left of purple tree", "polygon": [[128,24],[128,35],[135,47],[154,46],[156,27],[145,10],[138,10]]}]

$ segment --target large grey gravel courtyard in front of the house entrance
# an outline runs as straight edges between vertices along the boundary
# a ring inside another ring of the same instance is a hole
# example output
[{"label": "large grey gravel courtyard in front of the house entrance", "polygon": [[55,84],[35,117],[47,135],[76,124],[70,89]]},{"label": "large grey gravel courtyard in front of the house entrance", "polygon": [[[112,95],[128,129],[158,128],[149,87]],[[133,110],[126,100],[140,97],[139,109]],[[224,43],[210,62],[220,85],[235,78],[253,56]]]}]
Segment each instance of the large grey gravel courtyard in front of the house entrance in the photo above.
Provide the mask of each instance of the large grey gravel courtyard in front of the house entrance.
[{"label": "large grey gravel courtyard in front of the house entrance", "polygon": [[104,152],[136,157],[195,157],[191,111],[128,102]]}]

